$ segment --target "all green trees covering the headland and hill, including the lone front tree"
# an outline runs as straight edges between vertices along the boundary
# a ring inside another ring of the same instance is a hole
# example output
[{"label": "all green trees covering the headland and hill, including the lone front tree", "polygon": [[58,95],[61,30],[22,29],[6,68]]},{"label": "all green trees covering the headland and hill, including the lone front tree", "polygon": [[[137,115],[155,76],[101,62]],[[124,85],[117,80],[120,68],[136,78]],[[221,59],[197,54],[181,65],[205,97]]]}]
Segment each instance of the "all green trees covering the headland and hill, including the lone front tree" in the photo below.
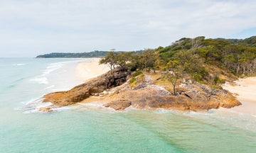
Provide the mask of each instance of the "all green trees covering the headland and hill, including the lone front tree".
[{"label": "all green trees covering the headland and hill, including the lone front tree", "polygon": [[[163,79],[175,85],[184,76],[205,84],[218,84],[224,81],[218,74],[209,74],[209,67],[225,69],[226,76],[231,73],[251,76],[256,73],[256,37],[245,40],[181,38],[167,47],[146,49],[142,54],[136,52],[108,52],[100,64],[114,67],[127,67],[131,70],[150,69],[165,71]],[[174,92],[175,93],[175,92]]]}]

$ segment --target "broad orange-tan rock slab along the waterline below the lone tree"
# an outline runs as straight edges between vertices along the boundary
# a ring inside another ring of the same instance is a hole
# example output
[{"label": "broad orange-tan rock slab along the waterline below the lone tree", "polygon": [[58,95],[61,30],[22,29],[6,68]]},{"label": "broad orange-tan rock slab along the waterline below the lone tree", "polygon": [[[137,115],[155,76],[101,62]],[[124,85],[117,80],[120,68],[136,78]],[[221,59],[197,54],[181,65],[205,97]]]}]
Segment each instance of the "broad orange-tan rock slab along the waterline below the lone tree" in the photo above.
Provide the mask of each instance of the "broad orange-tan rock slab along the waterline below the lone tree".
[{"label": "broad orange-tan rock slab along the waterline below the lone tree", "polygon": [[[142,83],[143,84],[143,83]],[[139,109],[154,110],[156,108],[176,109],[180,111],[207,111],[211,108],[232,108],[241,103],[223,89],[213,89],[203,84],[185,84],[188,91],[181,92],[174,96],[161,86],[154,84],[140,88],[125,88],[115,96],[112,102],[105,104],[115,110],[124,110],[125,107],[132,106]],[[129,103],[124,105],[122,99],[128,99]]]}]

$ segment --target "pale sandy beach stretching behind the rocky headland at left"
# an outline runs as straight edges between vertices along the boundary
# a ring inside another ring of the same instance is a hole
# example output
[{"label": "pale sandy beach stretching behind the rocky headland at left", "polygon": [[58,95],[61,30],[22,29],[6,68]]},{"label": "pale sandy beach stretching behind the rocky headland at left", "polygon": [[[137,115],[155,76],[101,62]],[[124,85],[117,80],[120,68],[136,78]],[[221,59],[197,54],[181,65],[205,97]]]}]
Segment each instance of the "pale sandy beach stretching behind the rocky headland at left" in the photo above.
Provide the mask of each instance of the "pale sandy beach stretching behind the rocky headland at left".
[{"label": "pale sandy beach stretching behind the rocky headland at left", "polygon": [[75,67],[75,77],[79,81],[87,81],[101,74],[104,74],[110,71],[110,68],[107,65],[100,64],[100,58],[91,58],[90,61],[80,62]]}]

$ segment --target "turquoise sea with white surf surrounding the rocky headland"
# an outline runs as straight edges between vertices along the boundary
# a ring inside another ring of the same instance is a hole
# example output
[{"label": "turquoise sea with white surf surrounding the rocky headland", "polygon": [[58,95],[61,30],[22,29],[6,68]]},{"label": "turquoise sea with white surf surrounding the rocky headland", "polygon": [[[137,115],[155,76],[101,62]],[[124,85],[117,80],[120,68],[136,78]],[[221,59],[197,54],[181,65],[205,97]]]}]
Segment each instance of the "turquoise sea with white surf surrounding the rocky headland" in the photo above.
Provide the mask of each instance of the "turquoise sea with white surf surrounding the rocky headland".
[{"label": "turquoise sea with white surf surrounding the rocky headland", "polygon": [[256,116],[232,111],[124,112],[36,99],[80,84],[82,59],[0,59],[0,152],[256,152]]}]

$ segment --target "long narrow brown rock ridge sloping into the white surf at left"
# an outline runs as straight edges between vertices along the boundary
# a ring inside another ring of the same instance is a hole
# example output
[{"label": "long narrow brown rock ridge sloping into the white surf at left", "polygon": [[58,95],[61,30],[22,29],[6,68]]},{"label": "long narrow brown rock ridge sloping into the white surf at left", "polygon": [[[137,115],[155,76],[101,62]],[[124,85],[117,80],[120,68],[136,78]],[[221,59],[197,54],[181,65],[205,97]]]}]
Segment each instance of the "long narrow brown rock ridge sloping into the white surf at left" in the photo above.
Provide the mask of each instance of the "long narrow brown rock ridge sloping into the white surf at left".
[{"label": "long narrow brown rock ridge sloping into the white surf at left", "polygon": [[110,89],[114,86],[119,86],[127,81],[127,77],[131,72],[122,67],[102,74],[101,76],[75,86],[69,91],[60,91],[43,96],[43,102],[51,102],[57,106],[68,106],[78,103],[91,95],[97,95],[105,89]]}]

